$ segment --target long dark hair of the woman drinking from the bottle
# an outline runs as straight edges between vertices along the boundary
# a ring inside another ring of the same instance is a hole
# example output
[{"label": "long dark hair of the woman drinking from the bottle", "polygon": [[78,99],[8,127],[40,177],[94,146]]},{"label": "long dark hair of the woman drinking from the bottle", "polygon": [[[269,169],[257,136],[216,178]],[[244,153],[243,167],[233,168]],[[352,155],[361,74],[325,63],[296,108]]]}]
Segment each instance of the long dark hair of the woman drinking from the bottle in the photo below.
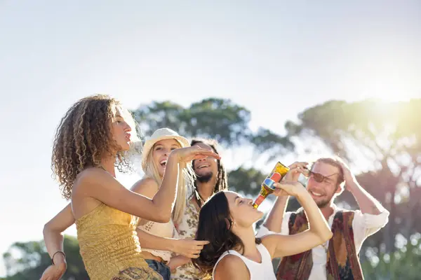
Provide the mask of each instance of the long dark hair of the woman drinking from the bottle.
[{"label": "long dark hair of the woman drinking from the bottle", "polygon": [[[213,267],[228,250],[236,250],[243,254],[244,244],[231,230],[232,218],[229,214],[229,204],[225,191],[216,193],[203,204],[199,213],[196,240],[207,240],[199,258],[192,259],[193,265],[203,272],[203,279],[211,279]],[[256,244],[261,240],[256,238]]]}]

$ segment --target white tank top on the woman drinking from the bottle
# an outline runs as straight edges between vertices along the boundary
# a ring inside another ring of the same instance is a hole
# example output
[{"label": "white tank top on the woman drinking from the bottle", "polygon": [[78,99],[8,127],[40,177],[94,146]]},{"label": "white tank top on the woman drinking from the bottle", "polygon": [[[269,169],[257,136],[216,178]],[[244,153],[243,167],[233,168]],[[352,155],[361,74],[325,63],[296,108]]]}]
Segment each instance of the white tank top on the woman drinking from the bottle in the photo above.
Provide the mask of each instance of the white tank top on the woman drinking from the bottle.
[{"label": "white tank top on the woman drinking from the bottle", "polygon": [[218,261],[215,263],[215,267],[213,267],[212,279],[214,279],[213,274],[215,274],[215,268],[218,265],[218,262],[220,262],[225,255],[236,255],[246,264],[248,272],[250,273],[250,280],[276,280],[274,267],[272,266],[272,258],[270,257],[269,251],[267,251],[267,248],[263,244],[258,244],[257,247],[260,255],[262,256],[262,262],[260,263],[249,260],[234,250],[222,253]]}]

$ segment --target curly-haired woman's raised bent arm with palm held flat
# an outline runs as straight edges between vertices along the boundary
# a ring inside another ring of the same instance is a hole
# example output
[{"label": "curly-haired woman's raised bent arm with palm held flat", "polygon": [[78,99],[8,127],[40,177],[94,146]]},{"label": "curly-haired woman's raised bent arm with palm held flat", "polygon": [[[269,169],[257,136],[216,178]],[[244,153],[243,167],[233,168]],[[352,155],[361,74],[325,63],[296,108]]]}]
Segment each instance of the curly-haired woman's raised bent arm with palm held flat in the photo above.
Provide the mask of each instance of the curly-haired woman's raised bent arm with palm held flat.
[{"label": "curly-haired woman's raised bent arm with palm held flat", "polygon": [[178,165],[208,156],[220,158],[218,154],[197,146],[172,151],[168,156],[161,187],[152,199],[124,188],[108,172],[99,168],[83,172],[77,179],[78,188],[83,195],[93,197],[120,211],[149,221],[167,223],[171,218],[177,193]]}]

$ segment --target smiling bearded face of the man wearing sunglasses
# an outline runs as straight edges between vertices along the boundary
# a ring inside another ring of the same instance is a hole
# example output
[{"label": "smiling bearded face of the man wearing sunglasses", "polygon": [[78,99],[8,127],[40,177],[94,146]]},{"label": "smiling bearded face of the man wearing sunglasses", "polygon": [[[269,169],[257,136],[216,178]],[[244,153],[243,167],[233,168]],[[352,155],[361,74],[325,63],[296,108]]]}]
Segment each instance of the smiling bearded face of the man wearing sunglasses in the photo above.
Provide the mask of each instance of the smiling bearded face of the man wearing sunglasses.
[{"label": "smiling bearded face of the man wearing sunglasses", "polygon": [[312,195],[319,208],[330,205],[335,199],[335,195],[342,192],[341,174],[341,169],[335,165],[323,161],[314,163],[307,182],[307,191]]}]

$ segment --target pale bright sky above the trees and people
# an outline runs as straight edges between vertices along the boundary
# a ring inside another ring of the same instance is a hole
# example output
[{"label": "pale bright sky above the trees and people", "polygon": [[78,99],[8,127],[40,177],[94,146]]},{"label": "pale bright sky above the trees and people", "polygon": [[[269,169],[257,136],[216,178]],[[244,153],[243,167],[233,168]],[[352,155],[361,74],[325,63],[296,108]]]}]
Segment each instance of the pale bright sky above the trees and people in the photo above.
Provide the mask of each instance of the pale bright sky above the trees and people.
[{"label": "pale bright sky above the trees and people", "polygon": [[[331,99],[421,97],[417,0],[0,0],[0,34],[0,253],[42,239],[67,204],[51,146],[81,97],[111,94],[129,109],[224,97],[250,110],[253,130],[279,133]],[[243,160],[225,157],[229,168]],[[119,178],[130,188],[139,177]]]}]

